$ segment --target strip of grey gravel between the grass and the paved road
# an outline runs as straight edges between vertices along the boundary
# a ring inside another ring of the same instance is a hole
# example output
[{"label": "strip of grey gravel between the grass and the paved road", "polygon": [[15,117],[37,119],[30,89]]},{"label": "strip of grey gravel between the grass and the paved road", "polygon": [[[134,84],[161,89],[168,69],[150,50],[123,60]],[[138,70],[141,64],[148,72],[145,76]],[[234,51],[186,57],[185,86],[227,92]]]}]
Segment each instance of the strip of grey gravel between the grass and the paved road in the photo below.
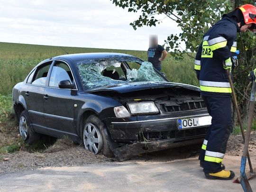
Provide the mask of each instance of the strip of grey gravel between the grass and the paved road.
[{"label": "strip of grey gravel between the grass and the paved road", "polygon": [[79,166],[113,161],[103,155],[94,155],[93,153],[84,150],[82,146],[76,146],[71,149],[53,153],[29,153],[27,151],[17,151],[1,156],[0,174],[33,170],[41,167]]}]

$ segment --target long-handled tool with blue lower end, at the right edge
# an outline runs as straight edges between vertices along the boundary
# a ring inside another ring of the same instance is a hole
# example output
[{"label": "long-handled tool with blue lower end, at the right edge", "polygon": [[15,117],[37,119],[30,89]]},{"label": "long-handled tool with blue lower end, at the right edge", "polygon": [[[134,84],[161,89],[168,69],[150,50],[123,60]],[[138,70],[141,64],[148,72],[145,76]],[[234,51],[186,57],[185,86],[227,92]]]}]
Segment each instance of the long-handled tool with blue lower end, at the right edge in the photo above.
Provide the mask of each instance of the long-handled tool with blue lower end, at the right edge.
[{"label": "long-handled tool with blue lower end, at the right edge", "polygon": [[251,186],[248,182],[247,174],[245,173],[245,167],[246,167],[246,159],[247,159],[246,156],[248,153],[248,146],[249,146],[252,121],[253,121],[253,115],[254,115],[255,92],[256,92],[256,83],[255,83],[255,81],[253,81],[251,97],[250,97],[250,108],[249,108],[246,139],[245,139],[244,151],[243,151],[243,155],[242,155],[242,159],[241,159],[241,167],[240,167],[241,185],[245,192],[252,192]]}]

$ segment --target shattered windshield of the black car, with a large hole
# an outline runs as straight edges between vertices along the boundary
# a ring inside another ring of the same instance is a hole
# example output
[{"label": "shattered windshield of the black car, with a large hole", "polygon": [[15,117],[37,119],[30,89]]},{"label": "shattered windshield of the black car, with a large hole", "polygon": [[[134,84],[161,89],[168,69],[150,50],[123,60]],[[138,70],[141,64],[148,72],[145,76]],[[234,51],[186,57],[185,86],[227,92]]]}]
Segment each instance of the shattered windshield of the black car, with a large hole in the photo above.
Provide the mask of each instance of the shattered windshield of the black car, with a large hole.
[{"label": "shattered windshield of the black car, with a large hole", "polygon": [[137,58],[83,60],[77,67],[85,89],[132,82],[166,82],[151,63]]}]

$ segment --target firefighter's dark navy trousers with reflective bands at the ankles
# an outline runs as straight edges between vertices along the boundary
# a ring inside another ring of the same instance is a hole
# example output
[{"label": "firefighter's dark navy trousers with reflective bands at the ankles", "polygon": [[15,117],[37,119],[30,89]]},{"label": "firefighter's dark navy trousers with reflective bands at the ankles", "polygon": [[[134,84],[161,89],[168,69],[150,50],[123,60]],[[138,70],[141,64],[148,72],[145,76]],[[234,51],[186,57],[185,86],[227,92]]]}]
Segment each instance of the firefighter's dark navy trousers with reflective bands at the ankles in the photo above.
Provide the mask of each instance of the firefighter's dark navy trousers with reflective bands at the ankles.
[{"label": "firefighter's dark navy trousers with reflective bands at the ankles", "polygon": [[231,100],[230,97],[203,96],[202,98],[212,119],[202,144],[199,160],[203,162],[205,173],[217,173],[222,170],[222,160],[232,131]]}]

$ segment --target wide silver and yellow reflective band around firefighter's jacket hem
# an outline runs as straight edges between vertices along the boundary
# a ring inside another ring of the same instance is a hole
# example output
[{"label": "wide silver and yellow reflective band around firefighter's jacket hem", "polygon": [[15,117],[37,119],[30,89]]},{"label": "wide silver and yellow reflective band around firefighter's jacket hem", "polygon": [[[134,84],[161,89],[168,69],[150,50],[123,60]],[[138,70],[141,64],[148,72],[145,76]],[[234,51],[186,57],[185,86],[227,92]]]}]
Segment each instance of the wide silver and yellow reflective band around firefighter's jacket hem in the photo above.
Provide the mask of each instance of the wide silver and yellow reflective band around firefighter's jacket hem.
[{"label": "wide silver and yellow reflective band around firefighter's jacket hem", "polygon": [[203,92],[231,93],[229,82],[214,82],[200,80],[200,89]]}]

